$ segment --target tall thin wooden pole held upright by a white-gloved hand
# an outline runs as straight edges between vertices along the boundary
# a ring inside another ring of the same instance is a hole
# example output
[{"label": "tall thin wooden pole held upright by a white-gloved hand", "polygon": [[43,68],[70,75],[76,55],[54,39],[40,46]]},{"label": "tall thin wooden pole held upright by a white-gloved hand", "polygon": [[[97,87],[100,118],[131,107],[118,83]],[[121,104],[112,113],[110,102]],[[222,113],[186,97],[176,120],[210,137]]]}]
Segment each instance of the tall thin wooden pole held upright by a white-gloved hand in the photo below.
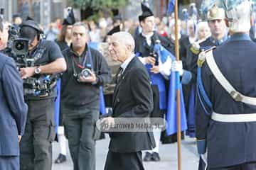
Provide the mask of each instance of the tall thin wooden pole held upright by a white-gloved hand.
[{"label": "tall thin wooden pole held upright by a white-gloved hand", "polygon": [[[180,60],[178,47],[178,0],[175,1],[175,56],[176,60]],[[177,77],[176,81],[179,81]],[[177,141],[178,141],[178,170],[181,170],[181,93],[179,83],[177,83],[176,101],[177,101]]]}]

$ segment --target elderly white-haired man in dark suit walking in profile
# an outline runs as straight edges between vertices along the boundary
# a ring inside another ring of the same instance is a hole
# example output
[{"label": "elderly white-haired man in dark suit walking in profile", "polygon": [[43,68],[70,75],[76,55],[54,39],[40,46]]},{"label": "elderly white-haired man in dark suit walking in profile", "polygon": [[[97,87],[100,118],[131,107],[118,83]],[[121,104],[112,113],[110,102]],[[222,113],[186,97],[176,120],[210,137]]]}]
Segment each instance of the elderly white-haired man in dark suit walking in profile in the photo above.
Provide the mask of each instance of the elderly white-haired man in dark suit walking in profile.
[{"label": "elderly white-haired man in dark suit walking in profile", "polygon": [[[122,65],[114,89],[112,117],[102,122],[114,125],[117,118],[148,118],[153,96],[146,68],[134,57],[134,38],[129,33],[114,33],[109,45],[110,55]],[[105,170],[144,169],[142,150],[155,147],[152,132],[110,132],[110,138]]]}]

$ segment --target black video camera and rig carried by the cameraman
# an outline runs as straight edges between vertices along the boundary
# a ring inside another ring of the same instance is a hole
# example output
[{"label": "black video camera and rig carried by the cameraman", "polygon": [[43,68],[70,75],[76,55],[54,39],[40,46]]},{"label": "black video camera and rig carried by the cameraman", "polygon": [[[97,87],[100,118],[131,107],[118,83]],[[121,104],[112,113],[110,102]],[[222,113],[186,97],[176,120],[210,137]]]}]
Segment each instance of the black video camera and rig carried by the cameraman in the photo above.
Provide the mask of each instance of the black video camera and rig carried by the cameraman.
[{"label": "black video camera and rig carried by the cameraman", "polygon": [[[30,26],[38,30],[32,21],[26,21],[24,26]],[[6,49],[3,51],[9,57],[12,57],[16,62],[17,69],[23,67],[35,67],[36,61],[43,57],[46,50],[46,42],[40,40],[38,49],[34,54],[29,55],[28,46],[29,40],[20,38],[20,29],[17,26],[10,26],[9,40]],[[38,30],[38,35],[41,35],[41,30]],[[23,79],[23,93],[29,96],[41,96],[50,94],[53,91],[58,79],[58,74],[39,74],[28,79]]]}]

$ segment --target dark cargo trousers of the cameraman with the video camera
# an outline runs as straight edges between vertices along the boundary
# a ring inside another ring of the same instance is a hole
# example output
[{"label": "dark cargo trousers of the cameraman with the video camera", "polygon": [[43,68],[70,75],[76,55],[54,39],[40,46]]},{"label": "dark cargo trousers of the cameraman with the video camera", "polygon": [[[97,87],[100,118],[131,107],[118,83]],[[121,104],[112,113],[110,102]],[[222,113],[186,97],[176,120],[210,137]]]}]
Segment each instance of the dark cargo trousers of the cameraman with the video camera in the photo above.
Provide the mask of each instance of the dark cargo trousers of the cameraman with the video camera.
[{"label": "dark cargo trousers of the cameraman with the video camera", "polygon": [[28,118],[20,142],[21,170],[50,170],[54,131],[54,99],[26,101]]}]

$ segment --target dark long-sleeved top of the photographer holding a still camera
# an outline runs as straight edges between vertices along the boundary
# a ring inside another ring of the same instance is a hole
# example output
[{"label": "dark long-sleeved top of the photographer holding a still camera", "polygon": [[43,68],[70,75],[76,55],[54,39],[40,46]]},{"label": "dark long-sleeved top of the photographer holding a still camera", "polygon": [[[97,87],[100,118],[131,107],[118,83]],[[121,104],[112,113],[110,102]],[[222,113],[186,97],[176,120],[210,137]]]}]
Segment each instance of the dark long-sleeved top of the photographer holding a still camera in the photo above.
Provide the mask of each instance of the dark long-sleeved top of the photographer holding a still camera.
[{"label": "dark long-sleeved top of the photographer holding a still camera", "polygon": [[[110,67],[102,54],[90,48],[91,57],[89,57],[87,52],[85,50],[81,56],[78,56],[73,52],[72,47],[63,51],[68,68],[63,72],[61,79],[61,102],[66,108],[99,108],[100,86],[111,81]],[[92,69],[97,77],[96,84],[78,82],[74,77],[75,72],[79,74],[82,71],[78,64]]]}]

